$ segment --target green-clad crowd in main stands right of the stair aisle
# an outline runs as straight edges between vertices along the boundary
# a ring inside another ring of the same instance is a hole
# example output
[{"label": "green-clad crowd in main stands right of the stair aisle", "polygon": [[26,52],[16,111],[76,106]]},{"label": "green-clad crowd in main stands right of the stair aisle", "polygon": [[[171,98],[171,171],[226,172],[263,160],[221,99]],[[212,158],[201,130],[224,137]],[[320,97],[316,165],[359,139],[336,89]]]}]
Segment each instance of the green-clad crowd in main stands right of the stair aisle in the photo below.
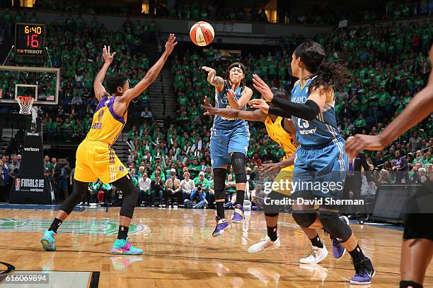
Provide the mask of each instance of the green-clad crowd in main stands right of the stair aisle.
[{"label": "green-clad crowd in main stands right of the stair aisle", "polygon": [[[328,61],[341,61],[350,70],[347,84],[335,90],[335,111],[344,138],[354,133],[379,133],[425,86],[432,66],[427,58],[432,35],[431,25],[424,22],[407,26],[395,23],[370,25],[316,37],[316,41],[327,49]],[[289,90],[293,82],[288,69],[291,55],[287,52],[293,51],[301,41],[299,37],[287,38],[280,52],[249,54],[236,59],[249,69],[247,85],[251,86],[251,73],[257,73],[270,85]],[[144,167],[149,172],[161,170],[162,174],[166,171],[166,176],[173,168],[179,175],[184,167],[195,173],[207,171],[212,118],[202,115],[200,103],[205,95],[214,95],[214,90],[199,66],[211,66],[217,69],[218,75],[224,76],[224,69],[234,60],[222,58],[213,47],[202,54],[187,51],[173,57],[174,92],[178,104],[176,124],[170,124],[165,135],[158,127],[133,126],[129,131],[134,142],[129,158],[132,167]],[[250,123],[250,131],[248,171],[256,169],[260,172],[262,164],[282,160],[284,152],[270,140],[262,124]],[[379,185],[424,181],[432,173],[432,152],[433,118],[429,117],[386,150],[366,152],[366,155]],[[153,159],[156,164],[152,164]],[[408,172],[407,176],[393,174],[402,171]],[[368,185],[366,189],[370,189]]]}]

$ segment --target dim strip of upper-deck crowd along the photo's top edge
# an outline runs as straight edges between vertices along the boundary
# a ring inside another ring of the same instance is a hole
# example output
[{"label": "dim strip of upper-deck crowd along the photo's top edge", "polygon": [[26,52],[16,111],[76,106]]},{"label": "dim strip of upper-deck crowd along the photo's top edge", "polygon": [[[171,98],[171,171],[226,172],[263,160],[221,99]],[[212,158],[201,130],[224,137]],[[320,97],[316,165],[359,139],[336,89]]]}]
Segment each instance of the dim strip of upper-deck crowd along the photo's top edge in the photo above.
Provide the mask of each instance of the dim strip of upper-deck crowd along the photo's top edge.
[{"label": "dim strip of upper-deck crowd along the photo's top edge", "polygon": [[[16,1],[19,2],[19,1]],[[321,7],[321,8],[319,8]],[[40,11],[62,11],[66,13],[95,14],[122,14],[138,16],[144,13],[142,1],[133,1],[129,4],[118,6],[96,6],[88,1],[69,0],[37,0],[33,8]],[[150,9],[150,8],[149,8]],[[183,18],[192,20],[233,20],[233,21],[260,21],[270,22],[264,7],[258,6],[224,6],[218,1],[175,1],[171,6],[156,3],[154,7],[156,17]],[[303,4],[294,5],[290,11],[285,12],[286,23],[301,24],[333,24],[339,20],[347,19],[350,23],[369,22],[374,20],[400,20],[417,16],[430,16],[433,13],[433,0],[389,0],[371,6],[370,8],[346,7],[345,15],[330,4],[316,5],[316,8],[308,8]],[[146,11],[149,13],[149,11]]]}]

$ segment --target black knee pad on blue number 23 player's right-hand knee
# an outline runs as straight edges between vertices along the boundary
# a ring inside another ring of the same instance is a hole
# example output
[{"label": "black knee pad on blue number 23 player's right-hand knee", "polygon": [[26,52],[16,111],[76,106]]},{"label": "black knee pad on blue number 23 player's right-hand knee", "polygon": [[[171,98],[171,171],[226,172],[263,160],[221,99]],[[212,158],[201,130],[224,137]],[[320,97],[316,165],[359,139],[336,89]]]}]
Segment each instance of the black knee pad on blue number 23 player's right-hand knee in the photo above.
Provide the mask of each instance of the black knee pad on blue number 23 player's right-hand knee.
[{"label": "black knee pad on blue number 23 player's right-hand knee", "polygon": [[323,229],[342,243],[352,236],[352,229],[344,220],[340,219],[340,215],[336,211],[320,210],[319,220],[321,220]]}]

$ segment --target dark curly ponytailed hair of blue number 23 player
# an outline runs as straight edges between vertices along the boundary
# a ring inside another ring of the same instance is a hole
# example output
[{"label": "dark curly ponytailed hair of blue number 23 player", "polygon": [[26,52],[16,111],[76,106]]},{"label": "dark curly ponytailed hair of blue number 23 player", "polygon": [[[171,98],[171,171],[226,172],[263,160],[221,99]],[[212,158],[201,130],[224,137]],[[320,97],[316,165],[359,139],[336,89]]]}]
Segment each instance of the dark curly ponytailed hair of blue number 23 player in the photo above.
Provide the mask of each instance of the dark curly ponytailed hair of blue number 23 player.
[{"label": "dark curly ponytailed hair of blue number 23 player", "polygon": [[317,42],[306,41],[300,44],[295,49],[294,54],[301,58],[306,69],[313,73],[308,77],[309,79],[313,78],[311,91],[321,86],[325,89],[331,88],[331,86],[340,88],[349,75],[345,66],[336,62],[325,61],[325,49]]}]

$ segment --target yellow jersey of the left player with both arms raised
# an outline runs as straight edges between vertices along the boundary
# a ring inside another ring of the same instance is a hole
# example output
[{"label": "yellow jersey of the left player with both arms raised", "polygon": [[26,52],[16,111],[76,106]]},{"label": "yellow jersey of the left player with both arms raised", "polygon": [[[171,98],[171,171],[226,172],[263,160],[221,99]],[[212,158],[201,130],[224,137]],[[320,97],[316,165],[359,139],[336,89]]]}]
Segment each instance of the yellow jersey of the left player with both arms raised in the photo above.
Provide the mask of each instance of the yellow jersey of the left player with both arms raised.
[{"label": "yellow jersey of the left player with both arms raised", "polygon": [[123,116],[117,116],[112,109],[116,97],[105,96],[100,100],[95,114],[93,114],[92,126],[87,133],[86,140],[107,143],[108,145],[116,142],[127,121],[127,112]]}]

